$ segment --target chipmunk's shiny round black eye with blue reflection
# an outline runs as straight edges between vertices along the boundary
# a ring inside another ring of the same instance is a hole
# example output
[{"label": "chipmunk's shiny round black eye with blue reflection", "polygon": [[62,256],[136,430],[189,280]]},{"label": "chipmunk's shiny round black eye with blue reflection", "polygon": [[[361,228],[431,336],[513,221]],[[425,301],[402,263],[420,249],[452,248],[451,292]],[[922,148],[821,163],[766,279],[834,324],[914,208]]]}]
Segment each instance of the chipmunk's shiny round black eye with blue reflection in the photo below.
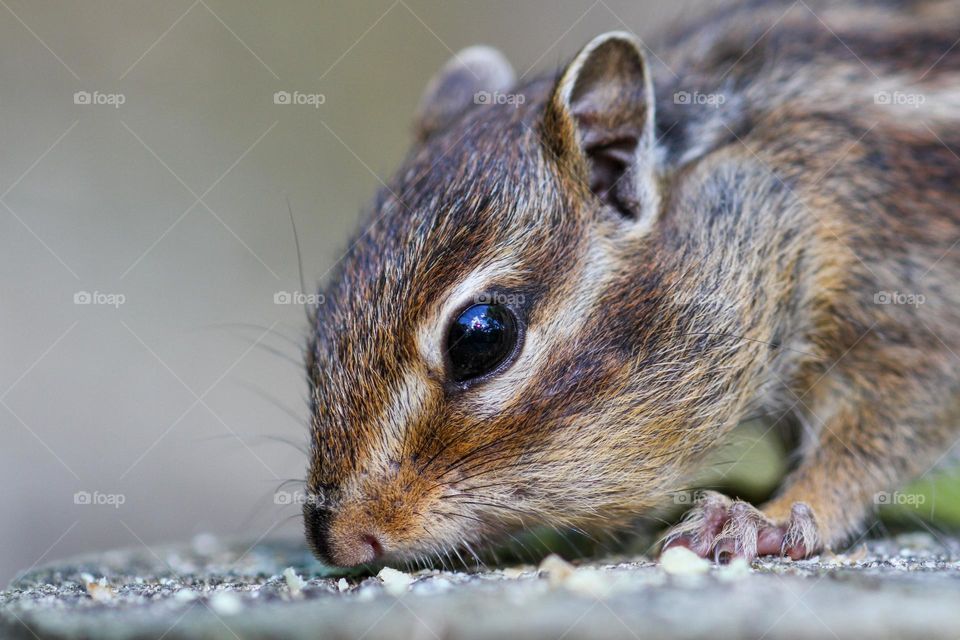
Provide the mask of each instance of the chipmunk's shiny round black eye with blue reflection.
[{"label": "chipmunk's shiny round black eye with blue reflection", "polygon": [[460,314],[447,336],[450,375],[466,382],[503,363],[517,345],[517,319],[500,304],[475,304]]}]

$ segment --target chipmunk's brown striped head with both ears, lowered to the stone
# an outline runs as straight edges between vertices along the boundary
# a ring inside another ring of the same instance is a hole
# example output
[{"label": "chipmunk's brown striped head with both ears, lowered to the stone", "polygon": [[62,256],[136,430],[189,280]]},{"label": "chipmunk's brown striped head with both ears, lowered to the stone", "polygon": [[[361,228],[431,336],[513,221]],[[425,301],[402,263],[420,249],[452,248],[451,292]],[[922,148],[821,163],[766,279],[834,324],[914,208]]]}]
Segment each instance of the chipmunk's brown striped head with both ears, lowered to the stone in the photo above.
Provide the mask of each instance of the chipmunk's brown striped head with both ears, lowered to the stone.
[{"label": "chipmunk's brown striped head with both ears, lowered to the stone", "polygon": [[312,548],[354,565],[653,506],[721,390],[663,304],[638,42],[521,88],[467,49],[417,132],[316,312]]}]

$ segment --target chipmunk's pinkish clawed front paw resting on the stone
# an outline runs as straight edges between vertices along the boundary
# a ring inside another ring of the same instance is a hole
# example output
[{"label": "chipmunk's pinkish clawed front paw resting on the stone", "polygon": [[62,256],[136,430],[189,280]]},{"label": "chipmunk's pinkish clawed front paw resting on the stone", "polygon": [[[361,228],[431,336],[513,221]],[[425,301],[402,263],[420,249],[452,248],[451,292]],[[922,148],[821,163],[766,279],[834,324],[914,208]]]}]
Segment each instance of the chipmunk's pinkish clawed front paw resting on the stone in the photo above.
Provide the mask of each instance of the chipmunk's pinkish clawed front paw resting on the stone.
[{"label": "chipmunk's pinkish clawed front paw resting on the stone", "polygon": [[771,519],[742,500],[713,491],[698,496],[698,504],[665,537],[663,549],[687,547],[718,563],[758,556],[809,557],[821,549],[813,510],[794,503],[785,521]]}]

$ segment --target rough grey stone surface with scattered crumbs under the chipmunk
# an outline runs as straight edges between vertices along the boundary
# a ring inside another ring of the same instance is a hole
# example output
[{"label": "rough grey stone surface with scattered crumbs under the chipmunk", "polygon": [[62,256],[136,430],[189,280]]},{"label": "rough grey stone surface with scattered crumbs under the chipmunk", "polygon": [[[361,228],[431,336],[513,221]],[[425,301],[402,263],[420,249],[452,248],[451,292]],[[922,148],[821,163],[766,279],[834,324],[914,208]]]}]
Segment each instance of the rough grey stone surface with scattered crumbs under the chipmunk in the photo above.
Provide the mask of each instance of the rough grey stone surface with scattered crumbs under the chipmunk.
[{"label": "rough grey stone surface with scattered crumbs under the chipmunk", "polygon": [[957,639],[960,542],[910,534],[752,567],[554,556],[340,579],[299,542],[200,537],[31,570],[0,592],[0,620],[3,638]]}]

